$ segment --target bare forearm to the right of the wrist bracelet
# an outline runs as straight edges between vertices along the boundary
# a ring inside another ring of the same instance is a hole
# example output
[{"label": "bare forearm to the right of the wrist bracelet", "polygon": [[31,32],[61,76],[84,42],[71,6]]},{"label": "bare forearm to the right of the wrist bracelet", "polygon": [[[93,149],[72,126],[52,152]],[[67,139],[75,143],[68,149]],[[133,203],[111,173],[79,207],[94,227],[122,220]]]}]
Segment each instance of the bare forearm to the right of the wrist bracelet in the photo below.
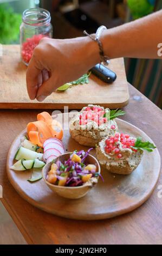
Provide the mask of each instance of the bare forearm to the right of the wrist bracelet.
[{"label": "bare forearm to the right of the wrist bracelet", "polygon": [[103,50],[109,58],[161,58],[162,10],[136,21],[107,29],[101,36]]}]

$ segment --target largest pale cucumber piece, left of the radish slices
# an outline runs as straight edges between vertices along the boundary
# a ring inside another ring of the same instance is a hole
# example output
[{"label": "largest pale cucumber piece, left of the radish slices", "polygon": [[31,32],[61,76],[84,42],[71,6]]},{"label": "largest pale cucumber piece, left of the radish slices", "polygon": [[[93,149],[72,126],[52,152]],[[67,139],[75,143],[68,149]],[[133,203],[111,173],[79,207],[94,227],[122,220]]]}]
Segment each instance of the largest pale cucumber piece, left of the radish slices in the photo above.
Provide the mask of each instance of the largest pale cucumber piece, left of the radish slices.
[{"label": "largest pale cucumber piece, left of the radish slices", "polygon": [[23,147],[20,147],[20,149],[17,151],[17,154],[15,156],[16,160],[25,159],[25,160],[42,160],[43,154],[37,153],[35,151],[32,151],[30,149],[26,149]]}]

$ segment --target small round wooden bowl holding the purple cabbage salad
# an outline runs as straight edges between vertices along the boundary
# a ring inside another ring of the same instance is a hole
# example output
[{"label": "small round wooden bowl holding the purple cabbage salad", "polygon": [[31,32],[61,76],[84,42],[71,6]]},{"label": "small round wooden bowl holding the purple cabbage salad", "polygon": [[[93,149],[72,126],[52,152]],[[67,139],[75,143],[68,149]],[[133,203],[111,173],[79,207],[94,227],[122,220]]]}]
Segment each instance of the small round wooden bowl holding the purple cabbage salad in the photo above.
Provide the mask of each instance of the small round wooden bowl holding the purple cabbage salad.
[{"label": "small round wooden bowl holding the purple cabbage salad", "polygon": [[[64,162],[69,159],[70,154],[72,154],[72,153],[66,153],[66,154],[60,155],[55,160],[57,161],[59,159],[61,162]],[[100,164],[94,156],[88,155],[86,158],[86,161],[89,164],[95,164],[96,172],[98,172],[98,173],[101,172]],[[59,196],[64,197],[64,198],[77,199],[77,198],[81,198],[81,197],[85,196],[87,194],[87,192],[90,190],[90,188],[92,188],[98,182],[98,179],[99,179],[99,176],[98,176],[97,178],[94,178],[92,182],[87,181],[85,184],[83,184],[82,186],[78,186],[78,187],[57,186],[57,185],[53,185],[53,184],[49,183],[46,180],[46,176],[50,170],[50,167],[51,167],[51,162],[47,163],[43,167],[43,169],[42,169],[43,179],[46,182],[47,186],[51,190],[53,190],[54,192],[59,194]]]}]

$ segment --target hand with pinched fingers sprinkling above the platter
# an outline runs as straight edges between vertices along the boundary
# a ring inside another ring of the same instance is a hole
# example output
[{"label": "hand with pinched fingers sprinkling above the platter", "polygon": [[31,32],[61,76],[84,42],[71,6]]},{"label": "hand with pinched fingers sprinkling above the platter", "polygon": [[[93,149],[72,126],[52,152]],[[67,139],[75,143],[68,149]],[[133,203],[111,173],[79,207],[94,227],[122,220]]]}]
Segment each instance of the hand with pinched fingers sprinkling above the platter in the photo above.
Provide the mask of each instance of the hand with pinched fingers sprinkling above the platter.
[{"label": "hand with pinched fingers sprinkling above the platter", "polygon": [[88,37],[43,38],[36,46],[27,69],[31,100],[43,101],[64,83],[85,74],[100,61],[98,46]]}]

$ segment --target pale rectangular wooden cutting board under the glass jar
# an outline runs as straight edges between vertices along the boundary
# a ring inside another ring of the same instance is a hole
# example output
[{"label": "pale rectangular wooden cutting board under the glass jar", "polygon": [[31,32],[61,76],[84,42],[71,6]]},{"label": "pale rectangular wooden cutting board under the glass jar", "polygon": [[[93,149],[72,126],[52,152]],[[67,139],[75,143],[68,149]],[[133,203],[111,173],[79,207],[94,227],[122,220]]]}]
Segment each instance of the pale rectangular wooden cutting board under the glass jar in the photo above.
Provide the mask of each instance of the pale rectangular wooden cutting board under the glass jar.
[{"label": "pale rectangular wooden cutting board under the glass jar", "polygon": [[20,45],[3,45],[0,57],[0,108],[82,108],[88,103],[109,108],[124,107],[129,93],[126,80],[124,59],[113,59],[109,69],[116,75],[116,81],[106,84],[94,75],[89,83],[73,86],[65,92],[54,92],[43,102],[31,101],[28,97],[25,72],[27,67],[20,59]]}]

